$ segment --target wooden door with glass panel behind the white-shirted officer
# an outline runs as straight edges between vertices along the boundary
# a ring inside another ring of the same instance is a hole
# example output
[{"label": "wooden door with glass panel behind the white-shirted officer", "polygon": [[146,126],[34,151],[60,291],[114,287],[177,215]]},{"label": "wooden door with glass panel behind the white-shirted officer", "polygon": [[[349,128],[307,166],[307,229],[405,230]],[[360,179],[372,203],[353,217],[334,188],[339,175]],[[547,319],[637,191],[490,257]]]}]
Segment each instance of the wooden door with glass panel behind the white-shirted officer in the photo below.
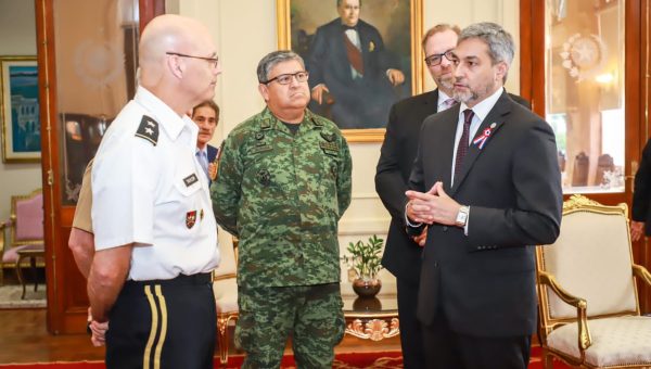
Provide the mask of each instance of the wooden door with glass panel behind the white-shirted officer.
[{"label": "wooden door with glass panel behind the white-shirted officer", "polygon": [[140,28],[164,0],[35,0],[48,330],[86,330],[86,280],[67,247],[81,175],[133,96]]}]

